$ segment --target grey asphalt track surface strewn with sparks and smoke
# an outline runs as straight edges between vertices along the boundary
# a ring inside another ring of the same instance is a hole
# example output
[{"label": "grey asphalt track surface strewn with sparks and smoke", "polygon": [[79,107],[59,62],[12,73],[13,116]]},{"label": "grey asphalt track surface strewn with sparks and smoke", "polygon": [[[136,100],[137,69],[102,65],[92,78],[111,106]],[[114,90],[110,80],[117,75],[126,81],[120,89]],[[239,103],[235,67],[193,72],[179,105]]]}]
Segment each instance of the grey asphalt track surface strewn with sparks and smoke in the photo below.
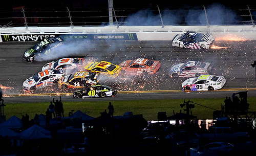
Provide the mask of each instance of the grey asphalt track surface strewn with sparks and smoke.
[{"label": "grey asphalt track surface strewn with sparks and smoke", "polygon": [[[215,41],[221,49],[191,50],[172,47],[170,41],[80,41],[66,42],[65,46],[51,55],[41,56],[38,61],[27,63],[23,53],[35,42],[0,43],[0,85],[4,89],[6,103],[49,102],[53,96],[61,95],[66,101],[86,100],[131,100],[167,98],[214,98],[231,96],[232,93],[248,91],[256,96],[255,68],[251,63],[256,59],[255,40]],[[50,57],[49,57],[50,56]],[[115,64],[126,59],[151,58],[161,61],[156,75],[142,78],[102,78],[102,84],[114,86],[119,94],[111,98],[72,99],[72,90],[63,91],[47,87],[36,91],[34,96],[25,96],[23,81],[38,73],[42,65],[63,57],[85,57],[87,61],[105,60]],[[174,63],[188,60],[209,61],[214,65],[212,74],[224,76],[227,80],[222,90],[212,92],[181,92],[181,83],[186,78],[170,78],[168,70]],[[143,92],[144,91],[144,92]],[[146,92],[145,92],[146,91]],[[56,94],[57,93],[57,94]],[[63,94],[61,94],[63,93]]]}]

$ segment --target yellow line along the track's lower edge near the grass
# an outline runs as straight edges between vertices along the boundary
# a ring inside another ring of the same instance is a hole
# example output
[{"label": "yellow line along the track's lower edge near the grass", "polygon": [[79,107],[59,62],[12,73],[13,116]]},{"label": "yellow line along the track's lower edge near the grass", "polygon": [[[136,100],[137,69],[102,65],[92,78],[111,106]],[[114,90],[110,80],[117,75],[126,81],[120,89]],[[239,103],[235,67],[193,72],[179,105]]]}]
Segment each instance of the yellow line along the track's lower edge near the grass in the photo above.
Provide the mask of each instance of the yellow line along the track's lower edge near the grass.
[{"label": "yellow line along the track's lower edge near the grass", "polygon": [[[227,88],[216,90],[219,91],[256,91],[256,88]],[[118,94],[136,94],[136,93],[179,93],[181,90],[160,90],[160,91],[118,91]],[[190,91],[190,92],[208,92],[208,91]],[[70,96],[73,93],[42,93],[42,94],[5,94],[4,97],[22,97],[22,96]]]}]

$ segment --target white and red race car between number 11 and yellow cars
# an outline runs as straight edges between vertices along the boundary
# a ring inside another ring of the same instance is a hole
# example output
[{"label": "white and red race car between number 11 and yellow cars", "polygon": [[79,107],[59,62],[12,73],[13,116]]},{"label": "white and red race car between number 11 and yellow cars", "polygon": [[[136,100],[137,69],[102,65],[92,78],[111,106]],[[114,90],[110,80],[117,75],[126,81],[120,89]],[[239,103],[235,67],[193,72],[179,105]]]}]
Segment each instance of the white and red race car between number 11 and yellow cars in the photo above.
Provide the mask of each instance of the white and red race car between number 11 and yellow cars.
[{"label": "white and red race car between number 11 and yellow cars", "polygon": [[80,68],[82,68],[83,63],[84,63],[83,58],[61,58],[57,61],[46,63],[44,66],[42,66],[42,71],[51,70],[51,69],[56,70],[59,68],[62,68],[63,70],[66,70],[66,69],[79,70]]}]

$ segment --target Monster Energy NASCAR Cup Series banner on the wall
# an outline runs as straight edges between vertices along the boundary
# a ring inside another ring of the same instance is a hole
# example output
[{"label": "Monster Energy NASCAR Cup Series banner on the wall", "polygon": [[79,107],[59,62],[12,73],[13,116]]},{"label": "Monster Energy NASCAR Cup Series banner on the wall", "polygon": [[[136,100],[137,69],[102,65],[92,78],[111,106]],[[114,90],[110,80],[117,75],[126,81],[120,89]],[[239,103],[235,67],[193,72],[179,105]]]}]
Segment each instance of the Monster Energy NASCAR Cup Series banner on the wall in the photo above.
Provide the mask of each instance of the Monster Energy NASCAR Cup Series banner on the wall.
[{"label": "Monster Energy NASCAR Cup Series banner on the wall", "polygon": [[[6,34],[1,35],[2,42],[41,41],[49,37],[63,40],[138,40],[136,33],[105,34]],[[1,40],[0,39],[0,40]]]}]

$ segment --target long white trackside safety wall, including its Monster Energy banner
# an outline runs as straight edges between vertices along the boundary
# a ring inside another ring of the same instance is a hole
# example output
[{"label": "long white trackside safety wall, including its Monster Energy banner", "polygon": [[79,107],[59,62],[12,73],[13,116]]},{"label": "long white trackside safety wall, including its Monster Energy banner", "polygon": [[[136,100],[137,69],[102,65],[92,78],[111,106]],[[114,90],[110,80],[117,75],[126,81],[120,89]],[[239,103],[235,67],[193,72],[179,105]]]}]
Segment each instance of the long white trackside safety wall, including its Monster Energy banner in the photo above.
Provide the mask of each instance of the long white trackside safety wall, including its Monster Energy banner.
[{"label": "long white trackside safety wall, including its Monster Energy banner", "polygon": [[215,37],[231,35],[256,39],[256,28],[246,26],[104,26],[104,27],[12,27],[0,28],[0,42],[38,41],[45,37],[66,35],[70,39],[89,40],[172,40],[175,35],[210,32]]}]

